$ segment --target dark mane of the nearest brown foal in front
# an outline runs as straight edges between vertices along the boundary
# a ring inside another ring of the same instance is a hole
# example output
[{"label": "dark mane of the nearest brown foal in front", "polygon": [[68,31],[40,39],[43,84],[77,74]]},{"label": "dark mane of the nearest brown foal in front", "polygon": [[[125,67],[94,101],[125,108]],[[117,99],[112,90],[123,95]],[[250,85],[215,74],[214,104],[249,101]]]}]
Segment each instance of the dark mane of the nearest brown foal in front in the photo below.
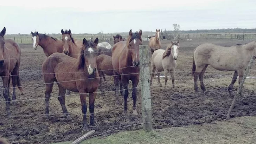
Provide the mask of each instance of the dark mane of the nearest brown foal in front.
[{"label": "dark mane of the nearest brown foal in front", "polygon": [[80,55],[79,55],[79,57],[77,58],[77,59],[78,59],[78,67],[77,67],[78,70],[84,69],[84,66],[85,66],[84,50],[85,50],[87,47],[97,48],[97,46],[95,45],[95,43],[94,43],[93,41],[91,41],[91,40],[88,41],[88,45],[82,46]]}]

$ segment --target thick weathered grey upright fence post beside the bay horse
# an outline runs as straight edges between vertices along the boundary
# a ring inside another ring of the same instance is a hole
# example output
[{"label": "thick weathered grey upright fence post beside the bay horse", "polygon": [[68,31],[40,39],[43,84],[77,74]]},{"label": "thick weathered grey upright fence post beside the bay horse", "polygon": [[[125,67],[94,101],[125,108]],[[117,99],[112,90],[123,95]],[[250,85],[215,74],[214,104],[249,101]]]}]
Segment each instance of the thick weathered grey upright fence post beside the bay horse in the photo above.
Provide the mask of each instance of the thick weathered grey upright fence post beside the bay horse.
[{"label": "thick weathered grey upright fence post beside the bay horse", "polygon": [[142,122],[144,131],[152,131],[151,93],[149,86],[148,46],[140,45],[140,86]]}]

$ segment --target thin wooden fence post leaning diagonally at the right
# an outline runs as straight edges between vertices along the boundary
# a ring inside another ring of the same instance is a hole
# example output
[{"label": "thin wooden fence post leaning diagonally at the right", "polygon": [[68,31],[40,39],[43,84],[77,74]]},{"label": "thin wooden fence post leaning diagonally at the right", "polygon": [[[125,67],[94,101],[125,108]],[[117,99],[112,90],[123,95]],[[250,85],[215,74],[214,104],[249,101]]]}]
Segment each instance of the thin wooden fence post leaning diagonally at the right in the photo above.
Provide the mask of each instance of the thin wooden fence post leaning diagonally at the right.
[{"label": "thin wooden fence post leaning diagonally at the right", "polygon": [[233,110],[233,108],[234,108],[234,106],[235,106],[236,97],[241,93],[241,90],[242,90],[242,88],[243,88],[244,81],[245,81],[245,79],[246,79],[246,77],[247,77],[247,75],[248,75],[248,73],[249,73],[249,69],[251,68],[251,65],[252,65],[253,61],[255,60],[255,58],[256,58],[255,55],[253,55],[253,56],[251,57],[251,60],[250,60],[248,66],[247,66],[247,68],[246,68],[246,70],[245,70],[243,79],[242,79],[241,83],[239,84],[239,88],[238,88],[238,90],[236,91],[236,95],[234,96],[234,98],[233,98],[233,100],[232,100],[232,104],[231,104],[231,106],[229,107],[229,111],[228,111],[228,114],[227,114],[227,119],[230,118],[230,113],[231,113],[231,111]]}]

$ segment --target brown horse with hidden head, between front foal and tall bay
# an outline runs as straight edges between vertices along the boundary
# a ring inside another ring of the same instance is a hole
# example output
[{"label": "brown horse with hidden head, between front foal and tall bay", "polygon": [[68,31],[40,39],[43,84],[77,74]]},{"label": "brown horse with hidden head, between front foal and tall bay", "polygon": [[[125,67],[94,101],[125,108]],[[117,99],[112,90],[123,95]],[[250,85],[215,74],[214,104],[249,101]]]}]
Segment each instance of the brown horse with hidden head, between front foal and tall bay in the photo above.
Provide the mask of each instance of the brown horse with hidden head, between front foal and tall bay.
[{"label": "brown horse with hidden head, between front foal and tall bay", "polygon": [[[102,78],[104,79],[104,81],[106,81],[105,75],[107,74],[108,76],[114,76],[114,68],[112,65],[112,57],[109,55],[105,55],[105,54],[101,54],[97,56],[97,70],[99,72],[99,76],[100,76],[100,89],[101,91],[104,91],[102,89]],[[120,83],[120,90],[122,90],[122,83]],[[122,91],[120,91],[120,93],[122,94]]]}]

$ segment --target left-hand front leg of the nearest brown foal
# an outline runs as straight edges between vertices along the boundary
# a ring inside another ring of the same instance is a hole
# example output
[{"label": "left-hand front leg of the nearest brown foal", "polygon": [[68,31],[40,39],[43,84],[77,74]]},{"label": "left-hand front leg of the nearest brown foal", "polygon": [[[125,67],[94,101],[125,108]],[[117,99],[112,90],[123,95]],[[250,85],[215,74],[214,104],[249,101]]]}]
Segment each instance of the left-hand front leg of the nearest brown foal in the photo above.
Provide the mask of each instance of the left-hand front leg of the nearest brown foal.
[{"label": "left-hand front leg of the nearest brown foal", "polygon": [[85,91],[79,91],[79,93],[80,93],[80,101],[81,101],[81,105],[82,105],[82,112],[84,114],[83,129],[88,130],[87,120],[86,120],[86,113],[87,113],[86,96],[87,96],[87,94],[85,94]]}]

